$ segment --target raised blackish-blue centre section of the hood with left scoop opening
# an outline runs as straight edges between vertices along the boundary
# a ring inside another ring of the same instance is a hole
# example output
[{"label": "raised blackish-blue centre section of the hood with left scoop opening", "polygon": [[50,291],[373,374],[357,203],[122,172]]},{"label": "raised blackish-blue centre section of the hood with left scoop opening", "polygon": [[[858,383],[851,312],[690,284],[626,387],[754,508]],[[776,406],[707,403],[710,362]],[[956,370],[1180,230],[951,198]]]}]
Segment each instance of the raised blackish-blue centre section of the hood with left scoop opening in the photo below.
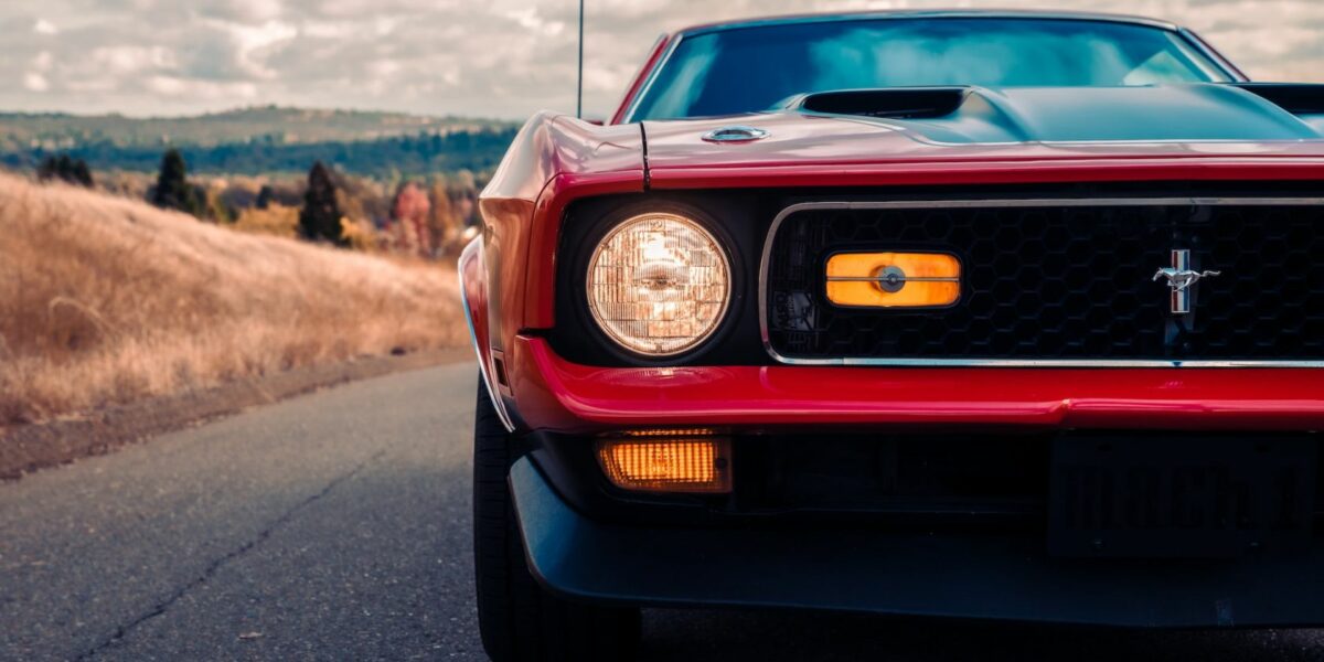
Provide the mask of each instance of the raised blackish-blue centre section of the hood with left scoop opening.
[{"label": "raised blackish-blue centre section of the hood with left scoop opening", "polygon": [[784,111],[875,119],[945,144],[1324,138],[1324,85],[891,87],[802,94]]}]

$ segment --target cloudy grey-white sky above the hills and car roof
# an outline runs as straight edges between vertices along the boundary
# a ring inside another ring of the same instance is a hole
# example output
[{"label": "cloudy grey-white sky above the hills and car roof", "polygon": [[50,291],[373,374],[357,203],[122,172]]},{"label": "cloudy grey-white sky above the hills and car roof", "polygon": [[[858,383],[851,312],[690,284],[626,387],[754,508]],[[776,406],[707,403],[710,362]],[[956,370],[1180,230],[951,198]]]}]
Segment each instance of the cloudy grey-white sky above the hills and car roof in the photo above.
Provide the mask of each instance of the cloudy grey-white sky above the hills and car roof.
[{"label": "cloudy grey-white sky above the hills and car roof", "polygon": [[[1083,8],[1200,30],[1259,79],[1324,81],[1324,0],[587,0],[585,111],[654,38],[821,9]],[[573,110],[576,0],[3,0],[0,110],[191,114],[250,105],[519,119]]]}]

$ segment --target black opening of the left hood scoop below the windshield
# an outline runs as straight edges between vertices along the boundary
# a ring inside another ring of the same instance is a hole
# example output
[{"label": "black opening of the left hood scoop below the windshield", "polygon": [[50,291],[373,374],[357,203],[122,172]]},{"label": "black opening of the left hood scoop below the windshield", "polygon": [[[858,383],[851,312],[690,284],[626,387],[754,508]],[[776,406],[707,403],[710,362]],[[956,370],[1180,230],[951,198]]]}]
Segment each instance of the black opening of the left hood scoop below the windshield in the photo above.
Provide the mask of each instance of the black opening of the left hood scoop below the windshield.
[{"label": "black opening of the left hood scoop below the windshield", "polygon": [[788,110],[887,119],[928,119],[951,115],[965,103],[969,87],[888,87],[841,90],[792,98]]}]

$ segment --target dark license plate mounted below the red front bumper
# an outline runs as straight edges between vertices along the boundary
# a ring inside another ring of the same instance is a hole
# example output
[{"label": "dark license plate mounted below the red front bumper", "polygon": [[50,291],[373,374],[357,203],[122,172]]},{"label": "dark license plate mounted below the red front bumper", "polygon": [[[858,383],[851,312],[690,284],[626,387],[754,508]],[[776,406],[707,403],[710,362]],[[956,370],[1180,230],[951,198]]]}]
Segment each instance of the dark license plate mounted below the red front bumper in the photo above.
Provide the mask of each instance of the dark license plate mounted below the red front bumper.
[{"label": "dark license plate mounted below the red front bumper", "polygon": [[1059,438],[1049,552],[1170,559],[1300,548],[1316,454],[1317,442],[1299,437]]}]

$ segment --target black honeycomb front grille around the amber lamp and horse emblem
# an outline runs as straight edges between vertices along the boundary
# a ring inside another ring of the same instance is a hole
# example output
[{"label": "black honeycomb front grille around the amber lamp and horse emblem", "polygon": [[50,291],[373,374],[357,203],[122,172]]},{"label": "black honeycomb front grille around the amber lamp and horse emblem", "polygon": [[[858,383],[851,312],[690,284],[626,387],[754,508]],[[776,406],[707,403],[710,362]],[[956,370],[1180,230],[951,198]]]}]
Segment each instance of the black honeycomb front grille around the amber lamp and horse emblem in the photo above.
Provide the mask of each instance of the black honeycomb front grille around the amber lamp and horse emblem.
[{"label": "black honeycomb front grille around the amber lamp and horse emblem", "polygon": [[[1324,207],[1107,200],[1005,207],[802,205],[764,265],[765,336],[805,360],[1324,360]],[[1221,271],[1170,312],[1172,252]],[[826,302],[842,250],[944,252],[963,291],[943,310]]]}]

